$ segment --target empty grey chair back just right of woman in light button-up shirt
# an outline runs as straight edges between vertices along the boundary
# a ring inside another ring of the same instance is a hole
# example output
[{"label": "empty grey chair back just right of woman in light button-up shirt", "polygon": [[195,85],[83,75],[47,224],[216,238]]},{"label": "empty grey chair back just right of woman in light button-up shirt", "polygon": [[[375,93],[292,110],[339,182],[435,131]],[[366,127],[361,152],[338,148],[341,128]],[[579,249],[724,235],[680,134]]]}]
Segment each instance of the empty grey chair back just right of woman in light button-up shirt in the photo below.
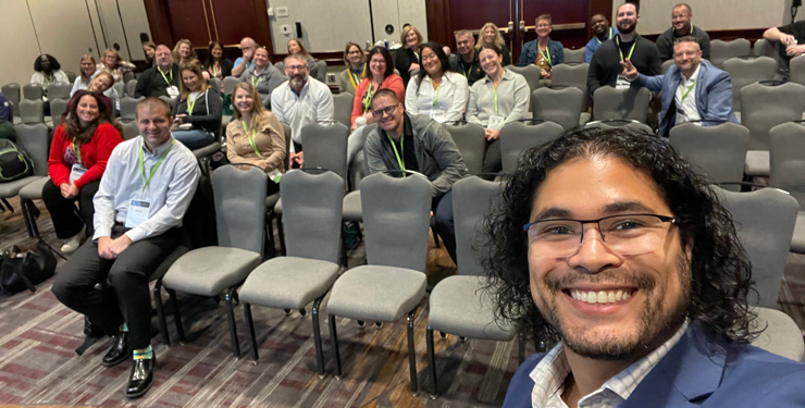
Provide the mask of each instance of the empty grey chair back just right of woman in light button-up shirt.
[{"label": "empty grey chair back just right of woman in light button-up shirt", "polygon": [[533,119],[558,123],[569,131],[587,123],[590,113],[582,113],[580,107],[584,92],[575,87],[542,87],[531,92],[531,114]]}]

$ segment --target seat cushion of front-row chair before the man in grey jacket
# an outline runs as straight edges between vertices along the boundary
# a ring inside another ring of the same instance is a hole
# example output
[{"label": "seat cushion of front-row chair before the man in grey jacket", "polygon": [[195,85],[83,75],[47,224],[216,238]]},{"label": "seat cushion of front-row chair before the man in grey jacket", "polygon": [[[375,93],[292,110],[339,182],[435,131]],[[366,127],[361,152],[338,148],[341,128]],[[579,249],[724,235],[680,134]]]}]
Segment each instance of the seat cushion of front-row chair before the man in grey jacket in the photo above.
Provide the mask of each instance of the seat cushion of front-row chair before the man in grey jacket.
[{"label": "seat cushion of front-row chair before the man in grey jacket", "polygon": [[411,269],[362,265],[344,273],[330,294],[327,313],[342,318],[393,323],[425,295],[425,274]]}]

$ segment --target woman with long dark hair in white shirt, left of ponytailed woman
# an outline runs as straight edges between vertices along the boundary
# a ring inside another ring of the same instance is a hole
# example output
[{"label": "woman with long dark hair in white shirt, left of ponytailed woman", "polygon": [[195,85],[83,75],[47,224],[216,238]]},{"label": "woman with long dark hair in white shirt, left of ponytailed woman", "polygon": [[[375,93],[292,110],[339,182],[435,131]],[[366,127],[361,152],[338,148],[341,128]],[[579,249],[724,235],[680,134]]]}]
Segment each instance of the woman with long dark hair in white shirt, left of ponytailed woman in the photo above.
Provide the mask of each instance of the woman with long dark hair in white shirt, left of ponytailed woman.
[{"label": "woman with long dark hair in white shirt, left of ponytailed woman", "polygon": [[420,47],[422,69],[406,89],[406,113],[421,114],[443,123],[465,115],[470,87],[463,75],[450,71],[447,55],[436,42]]}]

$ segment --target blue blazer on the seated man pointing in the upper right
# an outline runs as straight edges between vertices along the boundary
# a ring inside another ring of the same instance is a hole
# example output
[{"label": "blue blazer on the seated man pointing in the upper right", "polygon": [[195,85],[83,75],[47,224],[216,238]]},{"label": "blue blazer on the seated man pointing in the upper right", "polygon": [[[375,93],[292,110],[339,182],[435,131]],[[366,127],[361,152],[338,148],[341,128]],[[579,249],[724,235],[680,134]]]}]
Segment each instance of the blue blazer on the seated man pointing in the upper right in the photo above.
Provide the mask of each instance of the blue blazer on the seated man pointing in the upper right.
[{"label": "blue blazer on the seated man pointing in the upper right", "polygon": [[[646,76],[640,74],[643,86],[654,92],[662,91],[662,109],[659,112],[659,134],[668,137],[668,132],[677,123],[677,104],[673,96],[682,73],[671,65],[665,75]],[[732,81],[730,74],[702,61],[696,78],[696,110],[704,126],[715,126],[721,122],[739,123],[732,111]],[[711,122],[707,122],[711,121]]]}]

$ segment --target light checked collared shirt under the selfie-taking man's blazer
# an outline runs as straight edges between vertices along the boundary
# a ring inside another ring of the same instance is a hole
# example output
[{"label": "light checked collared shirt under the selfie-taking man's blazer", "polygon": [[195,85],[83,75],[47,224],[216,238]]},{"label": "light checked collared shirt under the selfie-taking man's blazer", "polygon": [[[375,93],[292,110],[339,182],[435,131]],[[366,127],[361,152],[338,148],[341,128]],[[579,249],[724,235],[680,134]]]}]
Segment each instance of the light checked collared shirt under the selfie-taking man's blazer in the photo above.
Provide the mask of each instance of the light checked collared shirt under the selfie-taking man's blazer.
[{"label": "light checked collared shirt under the selfie-taking man's blazer", "polygon": [[[579,408],[616,408],[623,404],[637,384],[682,338],[688,330],[688,323],[685,320],[679,331],[657,349],[609,379],[600,388],[579,399]],[[570,364],[565,356],[562,343],[559,342],[529,374],[534,381],[534,390],[531,391],[531,406],[534,408],[568,408],[561,399],[565,379],[568,374],[570,374]]]}]

